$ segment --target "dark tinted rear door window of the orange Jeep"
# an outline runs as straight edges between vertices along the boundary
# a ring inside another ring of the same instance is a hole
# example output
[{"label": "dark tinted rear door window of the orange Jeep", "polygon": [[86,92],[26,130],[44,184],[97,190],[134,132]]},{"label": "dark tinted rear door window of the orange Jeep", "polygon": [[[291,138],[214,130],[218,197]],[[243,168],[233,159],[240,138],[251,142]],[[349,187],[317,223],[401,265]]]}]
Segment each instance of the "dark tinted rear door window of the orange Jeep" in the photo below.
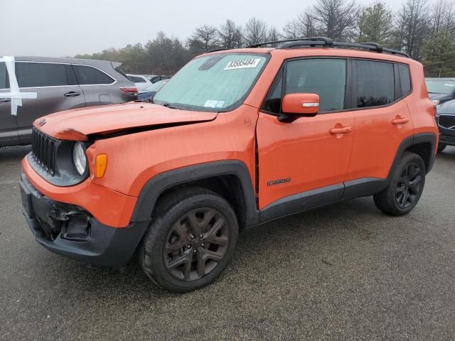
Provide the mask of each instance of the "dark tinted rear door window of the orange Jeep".
[{"label": "dark tinted rear door window of the orange Jeep", "polygon": [[392,63],[355,60],[357,75],[356,107],[378,107],[395,100],[395,78]]}]

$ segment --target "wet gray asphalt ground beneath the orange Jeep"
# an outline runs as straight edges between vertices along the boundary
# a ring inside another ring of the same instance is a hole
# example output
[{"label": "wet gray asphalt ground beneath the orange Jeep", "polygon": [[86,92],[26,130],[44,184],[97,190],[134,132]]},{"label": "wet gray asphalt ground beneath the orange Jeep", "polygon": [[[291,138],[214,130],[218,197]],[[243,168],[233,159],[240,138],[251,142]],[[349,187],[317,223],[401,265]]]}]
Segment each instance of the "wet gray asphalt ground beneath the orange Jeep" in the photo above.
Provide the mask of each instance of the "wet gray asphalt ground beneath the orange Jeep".
[{"label": "wet gray asphalt ground beneath the orange Jeep", "polygon": [[35,242],[0,148],[0,340],[454,340],[455,148],[406,217],[360,198],[247,229],[213,285],[161,291],[137,261],[78,264]]}]

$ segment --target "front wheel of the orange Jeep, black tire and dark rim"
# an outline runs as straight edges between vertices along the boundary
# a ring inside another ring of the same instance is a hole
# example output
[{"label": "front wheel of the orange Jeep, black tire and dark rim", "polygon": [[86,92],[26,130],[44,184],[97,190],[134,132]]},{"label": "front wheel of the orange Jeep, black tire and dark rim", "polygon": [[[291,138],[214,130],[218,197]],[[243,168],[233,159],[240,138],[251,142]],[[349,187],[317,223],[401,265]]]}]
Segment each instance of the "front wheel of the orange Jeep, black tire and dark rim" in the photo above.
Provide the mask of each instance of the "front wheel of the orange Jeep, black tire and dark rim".
[{"label": "front wheel of the orange Jeep, black tire and dark rim", "polygon": [[[206,220],[207,227],[201,227]],[[200,230],[199,236],[193,227]],[[193,291],[223,272],[234,254],[238,231],[235,212],[223,197],[203,188],[183,188],[159,200],[141,242],[139,264],[160,288]]]}]

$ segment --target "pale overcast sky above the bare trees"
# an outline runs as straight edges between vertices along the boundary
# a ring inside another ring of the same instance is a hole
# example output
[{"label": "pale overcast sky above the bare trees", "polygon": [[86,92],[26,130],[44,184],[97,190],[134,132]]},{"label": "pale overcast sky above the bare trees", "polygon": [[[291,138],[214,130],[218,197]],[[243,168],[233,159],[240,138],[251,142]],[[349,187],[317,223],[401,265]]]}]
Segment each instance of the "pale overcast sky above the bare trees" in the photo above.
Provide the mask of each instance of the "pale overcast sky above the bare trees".
[{"label": "pale overcast sky above the bare trees", "polygon": [[[281,30],[314,1],[0,0],[0,55],[95,53],[146,43],[159,31],[186,39],[196,26],[227,18],[243,24],[256,16]],[[385,2],[396,9],[402,1]]]}]

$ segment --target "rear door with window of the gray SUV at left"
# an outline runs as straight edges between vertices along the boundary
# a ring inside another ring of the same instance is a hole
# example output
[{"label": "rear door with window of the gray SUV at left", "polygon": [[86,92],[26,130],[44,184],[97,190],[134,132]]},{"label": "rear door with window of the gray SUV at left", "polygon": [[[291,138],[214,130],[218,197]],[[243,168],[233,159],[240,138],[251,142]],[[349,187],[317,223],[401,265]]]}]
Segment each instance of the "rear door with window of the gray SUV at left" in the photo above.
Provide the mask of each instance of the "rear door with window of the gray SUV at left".
[{"label": "rear door with window of the gray SUV at left", "polygon": [[22,99],[18,107],[18,138],[31,142],[31,128],[38,117],[63,110],[85,107],[84,94],[71,65],[16,61],[16,77],[21,92],[36,92],[36,99]]}]

